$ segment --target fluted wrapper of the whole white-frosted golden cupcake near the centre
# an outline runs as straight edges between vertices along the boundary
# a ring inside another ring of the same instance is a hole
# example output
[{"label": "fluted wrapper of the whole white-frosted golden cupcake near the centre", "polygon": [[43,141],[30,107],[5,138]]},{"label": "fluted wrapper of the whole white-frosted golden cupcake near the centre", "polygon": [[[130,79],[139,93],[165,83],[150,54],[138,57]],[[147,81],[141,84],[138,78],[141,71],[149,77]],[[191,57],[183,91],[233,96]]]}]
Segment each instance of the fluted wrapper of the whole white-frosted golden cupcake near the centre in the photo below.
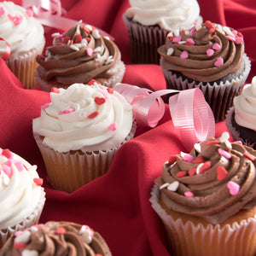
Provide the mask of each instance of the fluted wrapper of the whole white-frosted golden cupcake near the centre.
[{"label": "fluted wrapper of the whole white-frosted golden cupcake near the centre", "polygon": [[34,134],[38,148],[43,156],[51,185],[55,189],[71,193],[96,177],[108,172],[114,154],[122,144],[134,137],[136,126],[134,123],[130,134],[119,146],[104,151],[98,150],[85,153],[81,150],[66,153],[56,152],[53,148],[49,148],[43,143],[42,137]]}]

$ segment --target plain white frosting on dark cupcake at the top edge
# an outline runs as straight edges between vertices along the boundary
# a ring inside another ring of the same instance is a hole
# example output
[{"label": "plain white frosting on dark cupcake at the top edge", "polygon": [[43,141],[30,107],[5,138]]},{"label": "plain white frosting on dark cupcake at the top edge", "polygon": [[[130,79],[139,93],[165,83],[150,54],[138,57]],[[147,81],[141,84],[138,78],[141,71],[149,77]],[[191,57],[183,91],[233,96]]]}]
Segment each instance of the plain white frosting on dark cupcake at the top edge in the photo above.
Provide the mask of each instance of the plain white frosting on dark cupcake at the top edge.
[{"label": "plain white frosting on dark cupcake at the top edge", "polygon": [[196,0],[130,0],[125,15],[144,26],[159,25],[163,29],[190,28],[201,21]]}]

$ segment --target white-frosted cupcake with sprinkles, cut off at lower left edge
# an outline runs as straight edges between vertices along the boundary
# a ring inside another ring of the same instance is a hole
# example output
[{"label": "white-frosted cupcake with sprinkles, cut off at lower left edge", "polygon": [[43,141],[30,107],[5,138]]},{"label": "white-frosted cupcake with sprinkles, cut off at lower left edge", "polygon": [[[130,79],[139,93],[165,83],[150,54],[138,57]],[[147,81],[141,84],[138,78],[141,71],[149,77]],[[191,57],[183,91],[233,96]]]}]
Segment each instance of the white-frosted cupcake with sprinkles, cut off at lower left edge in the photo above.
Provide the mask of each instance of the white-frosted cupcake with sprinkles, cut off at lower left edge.
[{"label": "white-frosted cupcake with sprinkles, cut off at lower left edge", "polygon": [[37,166],[0,148],[0,247],[17,230],[38,224],[45,193]]}]

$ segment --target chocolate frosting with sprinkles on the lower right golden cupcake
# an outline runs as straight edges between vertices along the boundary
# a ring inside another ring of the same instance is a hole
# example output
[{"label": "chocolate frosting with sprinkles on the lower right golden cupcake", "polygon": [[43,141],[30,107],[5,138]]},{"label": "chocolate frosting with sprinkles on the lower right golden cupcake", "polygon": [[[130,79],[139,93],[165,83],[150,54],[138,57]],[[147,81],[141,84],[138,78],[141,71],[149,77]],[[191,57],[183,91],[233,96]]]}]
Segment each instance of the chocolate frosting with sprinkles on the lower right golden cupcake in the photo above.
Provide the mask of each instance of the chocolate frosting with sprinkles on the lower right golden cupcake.
[{"label": "chocolate frosting with sprinkles on the lower right golden cupcake", "polygon": [[210,137],[165,163],[155,183],[167,207],[219,224],[256,206],[256,153],[228,138]]}]

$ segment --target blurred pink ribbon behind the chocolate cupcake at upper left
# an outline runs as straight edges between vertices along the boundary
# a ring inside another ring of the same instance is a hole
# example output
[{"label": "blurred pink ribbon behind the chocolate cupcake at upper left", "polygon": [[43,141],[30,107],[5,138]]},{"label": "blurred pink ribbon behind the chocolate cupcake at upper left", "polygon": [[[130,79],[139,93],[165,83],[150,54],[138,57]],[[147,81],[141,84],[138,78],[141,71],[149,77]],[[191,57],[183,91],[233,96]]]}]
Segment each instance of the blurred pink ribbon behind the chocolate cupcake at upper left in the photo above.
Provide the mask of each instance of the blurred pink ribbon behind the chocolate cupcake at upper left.
[{"label": "blurred pink ribbon behind the chocolate cupcake at upper left", "polygon": [[[32,15],[44,26],[67,31],[78,22],[77,20],[63,17],[66,14],[66,10],[61,8],[60,0],[23,0],[22,6],[31,10]],[[107,32],[97,27],[96,29],[102,36],[107,36],[111,40],[114,40]]]}]

